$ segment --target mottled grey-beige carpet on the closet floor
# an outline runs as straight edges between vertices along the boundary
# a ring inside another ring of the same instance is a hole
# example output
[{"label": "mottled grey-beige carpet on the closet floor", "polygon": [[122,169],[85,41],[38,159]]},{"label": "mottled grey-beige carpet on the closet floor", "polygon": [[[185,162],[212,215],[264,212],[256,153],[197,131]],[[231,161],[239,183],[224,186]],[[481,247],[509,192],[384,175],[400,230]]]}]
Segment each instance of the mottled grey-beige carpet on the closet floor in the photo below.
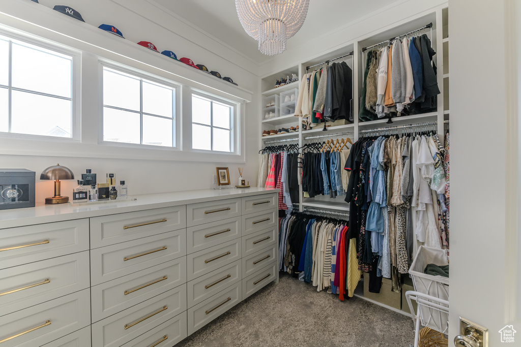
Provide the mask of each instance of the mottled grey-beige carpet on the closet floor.
[{"label": "mottled grey-beige carpet on the closet floor", "polygon": [[281,275],[178,346],[408,346],[413,320]]}]

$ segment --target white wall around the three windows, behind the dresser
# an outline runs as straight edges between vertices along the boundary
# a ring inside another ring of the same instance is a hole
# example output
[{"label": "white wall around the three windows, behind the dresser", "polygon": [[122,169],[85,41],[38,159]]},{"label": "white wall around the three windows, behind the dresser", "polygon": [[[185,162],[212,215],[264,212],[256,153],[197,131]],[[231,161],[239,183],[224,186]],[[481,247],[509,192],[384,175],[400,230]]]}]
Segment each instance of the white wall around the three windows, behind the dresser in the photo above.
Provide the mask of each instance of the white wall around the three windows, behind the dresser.
[{"label": "white wall around the three windows, behind the dresser", "polygon": [[[24,168],[35,171],[37,203],[42,202],[45,197],[53,195],[53,184],[44,181],[39,182],[39,176],[47,166],[55,165],[56,163],[70,168],[75,173],[76,178],[81,178],[81,173],[88,168],[100,175],[103,180],[107,172],[115,173],[118,181],[125,179],[129,185],[129,194],[210,188],[212,186],[212,177],[215,174],[216,166],[228,166],[230,168],[231,182],[233,185],[237,184],[236,182],[239,176],[237,168],[244,167],[245,179],[249,180],[251,184],[255,184],[258,166],[258,149],[256,148],[256,144],[258,143],[260,131],[258,122],[249,118],[249,115],[252,114],[252,110],[259,108],[259,92],[258,77],[251,61],[227,47],[216,45],[213,40],[201,32],[193,30],[186,23],[177,20],[165,12],[159,11],[158,8],[150,4],[145,4],[143,1],[125,1],[121,3],[125,4],[125,7],[119,5],[116,1],[107,0],[91,0],[89,2],[69,0],[66,5],[79,11],[85,22],[95,25],[95,27],[102,23],[113,24],[123,32],[127,41],[134,43],[150,41],[160,50],[173,50],[173,52],[178,55],[178,58],[189,57],[196,63],[204,63],[209,69],[217,70],[223,76],[231,76],[242,88],[249,89],[249,91],[253,92],[252,102],[245,104],[245,112],[243,114],[245,133],[242,135],[246,139],[245,148],[243,148],[245,162],[237,162],[237,160],[234,160],[235,162],[232,164],[222,158],[215,159],[215,156],[213,157],[214,159],[210,158],[209,160],[205,159],[201,161],[176,161],[171,159],[101,159],[95,155],[91,156],[91,158],[80,158],[80,156],[73,157],[70,155],[56,156],[54,151],[48,151],[49,155],[46,156],[42,155],[42,153],[35,155],[38,149],[34,147],[33,152],[26,151],[25,155],[0,155],[1,168]],[[23,16],[19,16],[19,18],[30,21],[35,16],[41,16],[42,8],[39,8],[39,6],[52,8],[55,4],[56,2],[51,0],[41,0],[40,5],[30,2],[29,0],[13,0],[13,2],[9,2],[5,5],[6,7],[0,10],[6,12],[13,10],[13,12],[17,14],[22,12]],[[11,8],[9,8],[10,6]],[[20,11],[20,8],[22,8],[23,11]],[[142,16],[142,14],[145,13],[145,9],[148,9],[146,14],[152,19],[147,19]],[[63,16],[65,17],[65,15]],[[5,24],[5,22],[3,24]],[[50,25],[51,24],[49,24],[49,26]],[[70,21],[67,17],[65,18],[65,25],[60,25],[60,32],[66,35],[73,35],[77,29],[75,27],[76,25],[78,24],[75,23],[74,20]],[[23,29],[27,28],[29,27],[24,25]],[[81,25],[79,29],[82,29]],[[42,29],[31,30],[31,34],[41,34],[43,37],[48,37],[53,34],[47,33]],[[101,32],[99,29],[95,30]],[[103,32],[101,33],[103,34]],[[94,34],[97,35],[97,32],[94,32]],[[54,35],[53,38],[58,36],[60,35]],[[111,37],[108,37],[108,39],[110,40]],[[61,42],[68,44],[70,40],[64,37]],[[118,41],[115,41],[115,43],[120,44]],[[138,45],[135,46],[137,47],[137,52],[139,51],[138,53],[141,54],[141,47]],[[117,48],[118,47],[114,49]],[[130,47],[130,49],[132,50],[133,47]],[[148,52],[144,52],[143,54],[148,55]],[[113,56],[107,58],[113,58]],[[153,56],[152,59],[157,58]],[[149,62],[145,61],[145,63]],[[192,80],[192,76],[199,78],[199,74],[193,74],[191,69],[184,69],[184,66],[176,66],[177,62],[172,61],[172,63],[174,63],[173,68],[176,68],[177,71],[181,71],[181,73],[185,73],[188,76],[187,78]],[[139,68],[139,62],[136,64],[135,67]],[[96,74],[97,71],[83,71],[84,78],[92,78],[92,75]],[[204,82],[206,81],[205,79],[209,80],[209,85],[213,87],[218,88],[222,85],[223,89],[230,89],[227,82],[215,82],[213,76],[210,76],[210,78],[207,78],[206,75],[201,77],[201,81]],[[233,88],[230,90],[232,89]],[[89,93],[95,94],[97,91],[83,91],[82,93],[83,95],[85,95],[85,93],[88,95]],[[85,102],[85,100],[83,100],[83,102]],[[82,105],[82,118],[87,122],[96,122],[98,118],[96,109],[96,107]],[[89,112],[86,112],[86,110],[89,110]],[[2,150],[0,150],[0,153],[2,153]],[[81,156],[84,156],[84,153]],[[117,158],[117,156],[113,157]],[[75,181],[63,182],[62,194],[71,196],[70,192],[72,187],[75,186],[74,183]]]}]

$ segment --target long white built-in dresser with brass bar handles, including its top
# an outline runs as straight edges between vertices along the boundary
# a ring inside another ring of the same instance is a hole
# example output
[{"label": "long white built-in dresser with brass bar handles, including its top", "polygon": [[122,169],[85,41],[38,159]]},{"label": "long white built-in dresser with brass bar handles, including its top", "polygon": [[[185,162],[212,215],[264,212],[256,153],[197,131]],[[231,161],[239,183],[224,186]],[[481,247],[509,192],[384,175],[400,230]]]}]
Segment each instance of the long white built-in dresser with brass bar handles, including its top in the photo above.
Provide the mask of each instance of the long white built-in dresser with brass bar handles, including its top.
[{"label": "long white built-in dresser with brass bar handles, including its top", "polygon": [[278,280],[277,190],[0,211],[0,345],[173,346]]}]

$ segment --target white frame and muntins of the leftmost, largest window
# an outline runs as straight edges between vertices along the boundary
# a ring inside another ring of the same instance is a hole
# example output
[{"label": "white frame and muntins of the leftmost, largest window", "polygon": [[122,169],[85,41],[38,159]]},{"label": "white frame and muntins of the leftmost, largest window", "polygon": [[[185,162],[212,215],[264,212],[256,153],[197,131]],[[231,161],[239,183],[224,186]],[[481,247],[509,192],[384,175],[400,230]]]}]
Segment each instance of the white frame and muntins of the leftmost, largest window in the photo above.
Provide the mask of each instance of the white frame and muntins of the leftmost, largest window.
[{"label": "white frame and muntins of the leftmost, largest window", "polygon": [[[36,95],[43,95],[43,96],[49,96],[49,97],[55,97],[59,99],[68,100],[69,98],[64,98],[52,94],[46,94],[42,92],[36,92],[31,91],[29,89],[22,89],[22,88],[14,88],[12,85],[12,67],[13,67],[13,41],[17,43],[17,41],[20,44],[29,44],[36,46],[37,48],[43,48],[47,50],[51,50],[53,52],[66,55],[71,57],[71,137],[58,137],[58,136],[48,136],[48,135],[34,135],[34,134],[21,134],[21,133],[11,133],[11,132],[0,132],[0,137],[2,138],[19,138],[19,139],[28,139],[28,140],[44,140],[49,142],[80,142],[81,141],[81,110],[80,110],[80,104],[79,102],[81,98],[81,86],[80,86],[80,78],[81,75],[81,53],[73,50],[69,47],[61,46],[59,44],[52,44],[44,41],[39,40],[32,40],[31,38],[20,36],[15,33],[11,33],[8,31],[0,30],[0,36],[6,37],[9,40],[9,78],[8,78],[8,115],[9,115],[9,121],[11,120],[12,114],[11,114],[11,107],[12,107],[12,100],[11,95],[12,91],[21,91],[21,92],[27,92],[32,93]],[[45,52],[47,53],[47,52]],[[10,124],[9,124],[10,128]]]}]

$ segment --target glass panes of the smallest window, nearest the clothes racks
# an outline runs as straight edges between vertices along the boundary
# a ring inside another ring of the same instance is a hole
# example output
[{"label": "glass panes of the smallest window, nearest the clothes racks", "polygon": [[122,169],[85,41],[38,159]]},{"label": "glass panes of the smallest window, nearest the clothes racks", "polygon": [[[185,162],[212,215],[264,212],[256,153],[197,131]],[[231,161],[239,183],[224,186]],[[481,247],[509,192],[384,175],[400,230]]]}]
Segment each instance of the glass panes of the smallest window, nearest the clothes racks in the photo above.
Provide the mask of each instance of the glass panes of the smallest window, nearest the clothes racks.
[{"label": "glass panes of the smallest window, nearest the clothes racks", "polygon": [[232,152],[233,106],[192,94],[192,148]]}]

